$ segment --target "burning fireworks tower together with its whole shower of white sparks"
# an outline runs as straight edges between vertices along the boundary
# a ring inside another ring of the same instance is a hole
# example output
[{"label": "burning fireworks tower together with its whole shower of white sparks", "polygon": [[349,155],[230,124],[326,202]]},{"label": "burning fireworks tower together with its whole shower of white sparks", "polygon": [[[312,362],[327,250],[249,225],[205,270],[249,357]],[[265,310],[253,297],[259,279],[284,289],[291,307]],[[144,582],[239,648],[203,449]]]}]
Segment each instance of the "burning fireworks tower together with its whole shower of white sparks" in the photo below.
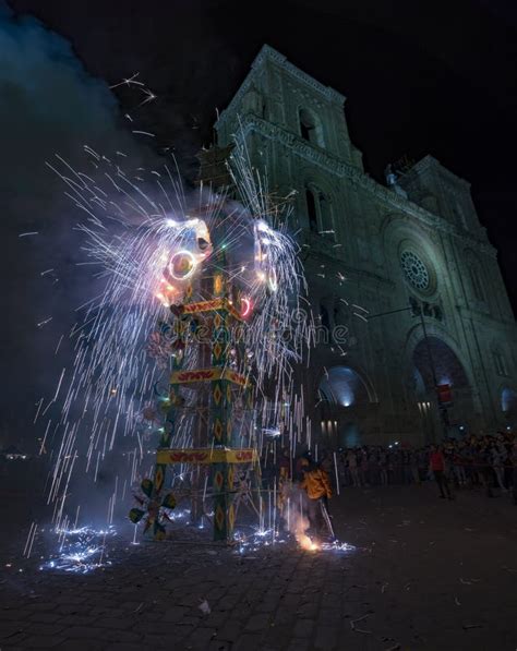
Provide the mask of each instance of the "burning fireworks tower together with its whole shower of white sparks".
[{"label": "burning fireworks tower together with its whole shower of white sparks", "polygon": [[[272,196],[250,166],[244,138],[237,140],[223,170],[231,193],[200,184],[187,197],[167,166],[133,177],[91,148],[104,189],[59,157],[63,169],[52,168],[87,215],[76,229],[101,287],[70,333],[75,355],[55,426],[61,437],[49,490],[59,531],[72,517],[75,460],[85,459],[96,482],[122,438],[127,477],[119,489],[110,469],[108,525],[130,485],[139,503],[130,519],[154,540],[165,538],[180,501],[190,502],[193,523],[213,523],[216,540],[233,539],[241,505],[262,529],[265,439],[281,437],[293,453],[302,437],[310,445],[293,388],[313,328],[292,320],[306,293],[287,226],[292,208]],[[158,447],[149,469],[151,439]],[[275,499],[269,514],[272,506]],[[74,507],[77,520],[81,505]]]}]

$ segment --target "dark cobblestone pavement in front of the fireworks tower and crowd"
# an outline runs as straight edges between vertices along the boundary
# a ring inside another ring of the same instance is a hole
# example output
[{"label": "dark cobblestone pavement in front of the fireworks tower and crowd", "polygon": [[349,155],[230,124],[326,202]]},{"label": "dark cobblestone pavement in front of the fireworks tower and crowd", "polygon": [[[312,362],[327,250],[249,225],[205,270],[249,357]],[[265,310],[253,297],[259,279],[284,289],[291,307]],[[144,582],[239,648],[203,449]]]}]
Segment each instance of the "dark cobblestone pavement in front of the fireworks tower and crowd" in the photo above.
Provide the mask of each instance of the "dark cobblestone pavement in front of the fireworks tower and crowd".
[{"label": "dark cobblestone pavement in front of the fireworks tower and crowd", "polygon": [[447,502],[433,485],[347,489],[332,508],[354,552],[276,544],[241,555],[132,546],[121,535],[112,565],[87,575],[38,571],[5,552],[0,649],[517,648],[509,499],[465,491]]}]

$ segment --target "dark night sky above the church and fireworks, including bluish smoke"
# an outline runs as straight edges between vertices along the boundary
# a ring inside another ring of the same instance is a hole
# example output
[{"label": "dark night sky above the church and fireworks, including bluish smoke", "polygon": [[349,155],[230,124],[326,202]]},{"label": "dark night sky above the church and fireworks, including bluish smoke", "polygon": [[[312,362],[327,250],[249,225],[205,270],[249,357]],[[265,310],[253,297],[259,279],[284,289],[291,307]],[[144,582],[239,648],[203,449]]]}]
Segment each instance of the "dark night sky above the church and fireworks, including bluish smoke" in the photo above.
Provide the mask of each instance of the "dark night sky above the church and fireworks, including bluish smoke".
[{"label": "dark night sky above the church and fireworks, including bluish smoke", "polygon": [[[45,160],[55,152],[73,159],[85,142],[123,146],[135,160],[160,158],[171,147],[192,178],[216,109],[227,106],[264,43],[347,97],[350,135],[373,177],[382,180],[388,161],[429,153],[471,182],[517,306],[510,0],[10,0],[9,7],[0,0],[1,351],[12,377],[3,421],[17,418],[24,396],[32,410],[32,373],[45,363],[41,347],[53,346],[58,330],[47,341],[35,324],[48,312],[65,325],[76,304],[77,285],[64,281],[75,264],[67,244],[70,206]],[[156,134],[149,142],[136,141],[123,118],[134,96],[108,88],[136,72],[157,95],[137,111],[139,128]],[[24,230],[43,239],[20,240]],[[41,291],[35,279],[51,266],[60,267],[60,289],[50,282]]]}]

